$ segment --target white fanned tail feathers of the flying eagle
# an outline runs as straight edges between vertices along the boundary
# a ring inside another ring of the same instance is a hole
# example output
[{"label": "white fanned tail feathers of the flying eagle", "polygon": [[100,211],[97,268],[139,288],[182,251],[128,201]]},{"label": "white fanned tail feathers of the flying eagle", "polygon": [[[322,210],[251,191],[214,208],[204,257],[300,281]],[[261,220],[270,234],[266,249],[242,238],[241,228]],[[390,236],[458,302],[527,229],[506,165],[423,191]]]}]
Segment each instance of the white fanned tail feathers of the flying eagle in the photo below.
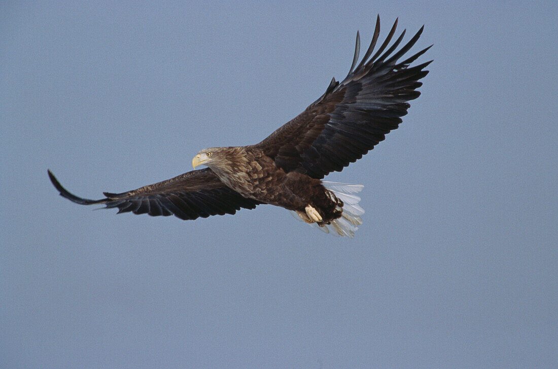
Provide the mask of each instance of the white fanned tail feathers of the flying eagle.
[{"label": "white fanned tail feathers of the flying eagle", "polygon": [[[312,223],[310,225],[325,233],[334,230],[336,235],[353,237],[355,230],[362,224],[360,215],[364,214],[364,209],[358,204],[360,197],[355,193],[362,191],[364,186],[328,181],[322,181],[321,183],[326,189],[333,192],[339,200],[343,201],[343,213],[340,218],[333,220],[331,224],[320,226],[317,223]],[[296,219],[302,221],[296,211],[290,210],[290,212]]]}]

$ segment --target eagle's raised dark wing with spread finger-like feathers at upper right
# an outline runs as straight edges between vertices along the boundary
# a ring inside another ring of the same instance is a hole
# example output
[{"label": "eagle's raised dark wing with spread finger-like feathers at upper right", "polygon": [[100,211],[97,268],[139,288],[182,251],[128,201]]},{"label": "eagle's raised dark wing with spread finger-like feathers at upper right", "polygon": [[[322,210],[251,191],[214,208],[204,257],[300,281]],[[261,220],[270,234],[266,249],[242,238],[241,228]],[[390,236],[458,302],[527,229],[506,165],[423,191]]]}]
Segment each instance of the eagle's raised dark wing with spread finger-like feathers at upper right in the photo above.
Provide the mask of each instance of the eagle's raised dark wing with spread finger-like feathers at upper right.
[{"label": "eagle's raised dark wing with spread finger-like feathers at upper right", "polygon": [[[398,61],[419,39],[422,29],[398,51],[405,31],[388,48],[397,20],[386,41],[371,57],[378,40],[380,21],[372,42],[357,66],[360,38],[347,77],[331,80],[325,94],[299,116],[283,125],[259,144],[254,145],[275,160],[285,171],[297,171],[321,179],[331,171],[340,171],[349,163],[362,158],[398,127],[410,106],[407,101],[419,97],[426,76],[426,62],[410,64],[430,47],[405,61]],[[356,66],[356,67],[355,67]]]}]

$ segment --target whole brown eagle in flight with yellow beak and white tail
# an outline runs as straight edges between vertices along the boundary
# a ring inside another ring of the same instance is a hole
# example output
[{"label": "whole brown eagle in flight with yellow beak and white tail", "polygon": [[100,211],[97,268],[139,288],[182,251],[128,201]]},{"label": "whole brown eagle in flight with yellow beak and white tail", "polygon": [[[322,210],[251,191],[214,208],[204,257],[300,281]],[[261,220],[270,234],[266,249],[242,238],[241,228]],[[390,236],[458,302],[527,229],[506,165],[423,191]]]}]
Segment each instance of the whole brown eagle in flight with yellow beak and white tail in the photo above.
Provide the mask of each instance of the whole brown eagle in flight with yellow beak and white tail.
[{"label": "whole brown eagle in flight with yellow beak and white tail", "polygon": [[[196,219],[271,204],[326,233],[353,237],[362,224],[364,210],[355,194],[363,185],[322,179],[362,158],[397,129],[410,107],[408,101],[419,97],[417,88],[432,62],[411,66],[432,45],[400,61],[424,26],[400,48],[405,30],[389,46],[396,27],[397,19],[374,52],[378,16],[360,62],[357,32],[353,62],[344,80],[333,78],[318,100],[258,144],[203,149],[192,160],[193,171],[136,190],[104,192],[100,200],[71,194],[48,170],[50,180],[62,197],[74,203],[103,204],[118,208],[118,213]],[[196,170],[199,165],[206,168]]]}]

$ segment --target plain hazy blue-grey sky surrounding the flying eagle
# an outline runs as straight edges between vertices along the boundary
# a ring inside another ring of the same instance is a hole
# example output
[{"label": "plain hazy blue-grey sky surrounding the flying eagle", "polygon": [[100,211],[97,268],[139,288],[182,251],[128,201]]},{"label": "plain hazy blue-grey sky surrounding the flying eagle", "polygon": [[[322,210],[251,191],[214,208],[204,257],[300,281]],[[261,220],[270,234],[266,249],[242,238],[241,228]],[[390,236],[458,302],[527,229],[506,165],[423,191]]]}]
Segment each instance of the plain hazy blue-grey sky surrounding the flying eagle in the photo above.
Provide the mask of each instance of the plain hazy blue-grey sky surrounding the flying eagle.
[{"label": "plain hazy blue-grey sky surrounding the flying eagle", "polygon": [[[258,206],[183,222],[99,198],[258,142],[425,31],[400,129],[328,180],[353,239]],[[556,368],[558,3],[0,4],[2,368]],[[407,35],[405,40],[408,40]]]}]

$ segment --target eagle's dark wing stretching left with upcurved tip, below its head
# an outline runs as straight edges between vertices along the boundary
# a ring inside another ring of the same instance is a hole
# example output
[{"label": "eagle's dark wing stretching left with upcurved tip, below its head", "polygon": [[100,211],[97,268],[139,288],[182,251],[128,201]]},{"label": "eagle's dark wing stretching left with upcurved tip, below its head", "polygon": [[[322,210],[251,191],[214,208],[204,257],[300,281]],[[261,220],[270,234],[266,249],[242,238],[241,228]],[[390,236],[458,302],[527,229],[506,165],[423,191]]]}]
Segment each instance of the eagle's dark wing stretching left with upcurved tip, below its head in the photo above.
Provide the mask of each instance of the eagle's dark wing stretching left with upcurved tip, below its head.
[{"label": "eagle's dark wing stretching left with upcurved tip, below its head", "polygon": [[234,214],[240,208],[254,209],[261,204],[225,186],[209,168],[189,171],[121,194],[105,192],[107,197],[100,200],[83,199],[69,193],[50,170],[49,177],[62,197],[82,205],[104,204],[107,208],[118,208],[118,213],[132,211],[153,217],[174,214],[180,219],[196,219]]}]

